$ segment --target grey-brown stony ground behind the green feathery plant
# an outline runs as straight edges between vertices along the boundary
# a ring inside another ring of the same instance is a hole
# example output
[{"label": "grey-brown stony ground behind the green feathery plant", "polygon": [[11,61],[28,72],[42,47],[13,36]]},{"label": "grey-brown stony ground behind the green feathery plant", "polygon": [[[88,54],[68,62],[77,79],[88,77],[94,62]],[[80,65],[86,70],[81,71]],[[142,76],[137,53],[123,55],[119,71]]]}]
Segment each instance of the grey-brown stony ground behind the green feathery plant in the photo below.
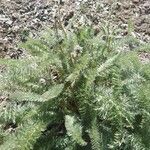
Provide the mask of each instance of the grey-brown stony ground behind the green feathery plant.
[{"label": "grey-brown stony ground behind the green feathery plant", "polygon": [[58,17],[68,30],[110,22],[121,36],[130,20],[134,35],[150,42],[150,0],[0,0],[0,57],[22,53],[17,44],[45,26],[54,27]]}]

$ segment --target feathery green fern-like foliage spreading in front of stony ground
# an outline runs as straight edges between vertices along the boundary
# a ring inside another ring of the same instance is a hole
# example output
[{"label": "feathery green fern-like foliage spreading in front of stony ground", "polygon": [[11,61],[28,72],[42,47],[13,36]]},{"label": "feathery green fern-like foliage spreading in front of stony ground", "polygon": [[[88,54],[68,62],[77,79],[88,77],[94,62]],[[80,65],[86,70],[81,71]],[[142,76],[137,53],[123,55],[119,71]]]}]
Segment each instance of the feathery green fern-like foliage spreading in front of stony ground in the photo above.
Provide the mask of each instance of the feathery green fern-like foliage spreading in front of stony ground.
[{"label": "feathery green fern-like foliage spreading in front of stony ground", "polygon": [[150,149],[150,64],[102,31],[48,30],[0,60],[1,150]]}]

